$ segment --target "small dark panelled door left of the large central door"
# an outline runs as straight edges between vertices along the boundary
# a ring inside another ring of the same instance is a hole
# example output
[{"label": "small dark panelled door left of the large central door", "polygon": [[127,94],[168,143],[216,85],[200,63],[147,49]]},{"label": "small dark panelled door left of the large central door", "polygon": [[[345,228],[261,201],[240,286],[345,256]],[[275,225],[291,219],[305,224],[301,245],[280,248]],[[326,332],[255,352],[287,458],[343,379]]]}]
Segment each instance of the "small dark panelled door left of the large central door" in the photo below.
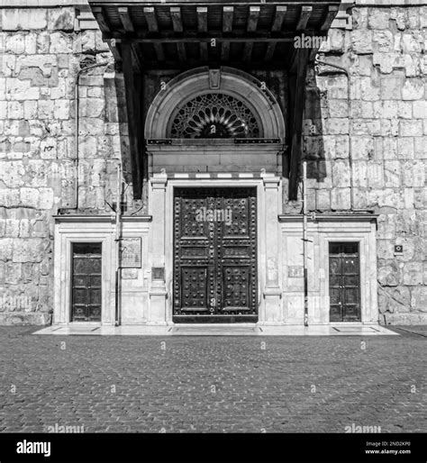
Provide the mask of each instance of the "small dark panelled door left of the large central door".
[{"label": "small dark panelled door left of the large central door", "polygon": [[101,250],[101,243],[73,243],[71,322],[101,322]]}]

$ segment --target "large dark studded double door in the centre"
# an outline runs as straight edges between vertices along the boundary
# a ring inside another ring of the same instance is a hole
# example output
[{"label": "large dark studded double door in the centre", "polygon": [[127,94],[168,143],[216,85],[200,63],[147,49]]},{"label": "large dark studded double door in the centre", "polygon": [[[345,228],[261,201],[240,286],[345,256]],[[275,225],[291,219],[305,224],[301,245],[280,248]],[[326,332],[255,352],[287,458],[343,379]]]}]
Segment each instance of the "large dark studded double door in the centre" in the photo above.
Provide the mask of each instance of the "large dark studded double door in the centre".
[{"label": "large dark studded double door in the centre", "polygon": [[174,322],[257,322],[255,188],[176,188]]}]

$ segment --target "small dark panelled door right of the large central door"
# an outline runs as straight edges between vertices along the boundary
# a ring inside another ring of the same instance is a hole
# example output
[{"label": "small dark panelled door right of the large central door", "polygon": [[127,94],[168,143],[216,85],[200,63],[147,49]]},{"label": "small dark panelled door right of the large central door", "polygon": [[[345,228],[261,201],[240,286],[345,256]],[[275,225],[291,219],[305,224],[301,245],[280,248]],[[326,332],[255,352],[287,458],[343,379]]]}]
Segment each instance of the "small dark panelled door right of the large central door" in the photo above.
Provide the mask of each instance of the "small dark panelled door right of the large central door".
[{"label": "small dark panelled door right of the large central door", "polygon": [[331,322],[360,322],[359,243],[329,243]]}]

